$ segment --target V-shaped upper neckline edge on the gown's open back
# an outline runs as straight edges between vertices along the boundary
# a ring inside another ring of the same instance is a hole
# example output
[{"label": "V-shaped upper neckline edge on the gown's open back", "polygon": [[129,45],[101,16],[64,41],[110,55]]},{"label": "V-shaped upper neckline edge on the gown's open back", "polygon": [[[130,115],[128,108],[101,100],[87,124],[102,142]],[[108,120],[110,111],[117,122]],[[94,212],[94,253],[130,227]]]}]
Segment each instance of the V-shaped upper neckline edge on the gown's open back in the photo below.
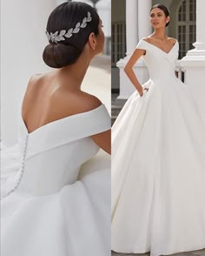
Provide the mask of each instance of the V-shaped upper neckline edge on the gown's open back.
[{"label": "V-shaped upper neckline edge on the gown's open back", "polygon": [[104,106],[104,104],[100,104],[98,107],[96,107],[96,108],[93,109],[93,110],[84,111],[84,112],[80,112],[80,113],[77,113],[77,114],[70,115],[70,116],[65,117],[65,118],[56,119],[56,120],[54,120],[54,121],[51,121],[50,123],[47,123],[47,124],[45,124],[45,125],[42,125],[42,126],[36,128],[34,131],[29,131],[29,130],[28,130],[27,125],[26,125],[26,123],[25,123],[24,120],[23,120],[23,114],[22,114],[23,111],[22,111],[22,107],[21,107],[20,116],[21,116],[21,119],[22,119],[22,122],[23,122],[23,126],[24,126],[24,128],[25,128],[25,130],[26,130],[26,132],[27,132],[27,135],[28,135],[28,136],[31,136],[33,133],[36,133],[37,131],[40,131],[40,130],[44,129],[44,128],[46,128],[47,126],[54,125],[54,124],[56,124],[58,121],[59,121],[59,122],[63,122],[64,120],[69,119],[69,118],[75,118],[75,117],[78,117],[78,116],[83,116],[83,114],[88,114],[88,113],[90,113],[90,112],[92,112],[92,111],[96,111],[96,110],[100,109],[100,108],[103,107],[103,106]]}]

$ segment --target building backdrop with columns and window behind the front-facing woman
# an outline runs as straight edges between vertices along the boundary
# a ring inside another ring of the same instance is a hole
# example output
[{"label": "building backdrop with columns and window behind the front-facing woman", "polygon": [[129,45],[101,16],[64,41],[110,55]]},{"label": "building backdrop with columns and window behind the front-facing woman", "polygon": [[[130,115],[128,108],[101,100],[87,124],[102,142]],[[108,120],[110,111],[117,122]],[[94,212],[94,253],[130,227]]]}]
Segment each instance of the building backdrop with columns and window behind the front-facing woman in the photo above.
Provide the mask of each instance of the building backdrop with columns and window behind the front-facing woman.
[{"label": "building backdrop with columns and window behind the front-facing woman", "polygon": [[[122,105],[135,91],[123,68],[136,44],[142,37],[152,32],[149,24],[149,10],[156,3],[166,5],[170,12],[170,24],[166,28],[169,37],[177,38],[180,49],[175,66],[178,77],[188,85],[188,89],[205,110],[202,91],[205,86],[205,10],[204,0],[112,0],[112,122],[116,120]],[[149,72],[142,59],[134,70],[141,84],[149,79]],[[205,118],[205,112],[202,111]]]}]

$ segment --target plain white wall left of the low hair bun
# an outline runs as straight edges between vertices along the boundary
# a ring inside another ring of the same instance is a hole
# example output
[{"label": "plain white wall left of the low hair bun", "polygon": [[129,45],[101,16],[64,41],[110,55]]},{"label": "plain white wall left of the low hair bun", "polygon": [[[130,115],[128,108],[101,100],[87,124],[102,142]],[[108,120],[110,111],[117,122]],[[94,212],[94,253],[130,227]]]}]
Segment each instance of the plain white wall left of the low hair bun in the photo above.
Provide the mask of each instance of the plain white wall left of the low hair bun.
[{"label": "plain white wall left of the low hair bun", "polygon": [[44,31],[56,0],[1,0],[1,138],[17,141],[17,105],[32,74],[48,71]]}]

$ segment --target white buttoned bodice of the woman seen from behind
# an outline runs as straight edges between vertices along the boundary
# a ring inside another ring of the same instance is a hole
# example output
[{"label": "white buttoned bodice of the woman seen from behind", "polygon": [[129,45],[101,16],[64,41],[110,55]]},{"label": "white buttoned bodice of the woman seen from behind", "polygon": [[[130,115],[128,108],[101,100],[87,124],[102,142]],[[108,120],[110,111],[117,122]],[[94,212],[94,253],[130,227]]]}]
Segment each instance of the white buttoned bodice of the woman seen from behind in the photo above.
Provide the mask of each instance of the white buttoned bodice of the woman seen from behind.
[{"label": "white buttoned bodice of the woman seen from behind", "polygon": [[103,104],[30,133],[20,117],[22,165],[13,191],[29,195],[58,192],[64,185],[76,182],[81,165],[99,150],[90,136],[110,129],[109,113]]}]

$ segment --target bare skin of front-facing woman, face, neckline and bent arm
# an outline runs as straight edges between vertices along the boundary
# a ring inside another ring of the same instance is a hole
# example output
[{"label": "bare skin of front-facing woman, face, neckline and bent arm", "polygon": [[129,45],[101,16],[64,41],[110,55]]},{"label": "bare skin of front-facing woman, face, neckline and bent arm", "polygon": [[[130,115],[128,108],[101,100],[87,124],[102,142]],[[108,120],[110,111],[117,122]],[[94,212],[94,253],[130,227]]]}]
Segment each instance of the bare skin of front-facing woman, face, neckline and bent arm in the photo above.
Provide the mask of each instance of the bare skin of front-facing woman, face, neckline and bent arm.
[{"label": "bare skin of front-facing woman, face, neckline and bent arm", "polygon": [[[150,24],[155,29],[154,33],[149,37],[143,38],[149,44],[153,44],[162,51],[169,53],[176,43],[176,39],[168,37],[165,32],[165,26],[169,22],[169,17],[166,17],[163,10],[159,8],[154,8],[150,12]],[[146,51],[142,49],[136,49],[131,57],[129,58],[128,63],[125,65],[124,71],[129,77],[129,80],[134,84],[136,90],[139,92],[142,97],[143,91],[149,91],[149,88],[142,88],[142,85],[139,83],[135,72],[133,71],[133,66],[139,60],[142,55],[145,55]]]}]

